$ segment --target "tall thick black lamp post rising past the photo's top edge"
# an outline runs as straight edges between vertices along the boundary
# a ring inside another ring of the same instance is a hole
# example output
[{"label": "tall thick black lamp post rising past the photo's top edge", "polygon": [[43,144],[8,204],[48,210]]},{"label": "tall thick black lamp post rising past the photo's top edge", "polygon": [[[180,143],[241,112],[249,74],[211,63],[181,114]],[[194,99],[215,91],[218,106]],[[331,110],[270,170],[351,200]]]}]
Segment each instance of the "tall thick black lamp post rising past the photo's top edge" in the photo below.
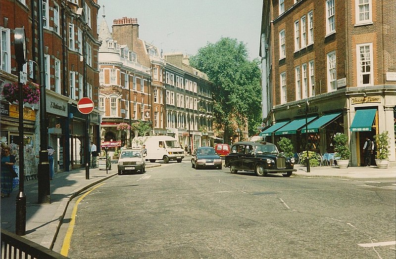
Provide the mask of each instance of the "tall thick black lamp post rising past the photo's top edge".
[{"label": "tall thick black lamp post rising past the photo's top edge", "polygon": [[[38,203],[51,203],[49,191],[49,161],[48,161],[48,123],[46,80],[44,64],[44,32],[43,32],[43,1],[39,1],[39,64],[40,64],[40,153],[38,166]],[[34,46],[33,46],[34,47]]]}]

